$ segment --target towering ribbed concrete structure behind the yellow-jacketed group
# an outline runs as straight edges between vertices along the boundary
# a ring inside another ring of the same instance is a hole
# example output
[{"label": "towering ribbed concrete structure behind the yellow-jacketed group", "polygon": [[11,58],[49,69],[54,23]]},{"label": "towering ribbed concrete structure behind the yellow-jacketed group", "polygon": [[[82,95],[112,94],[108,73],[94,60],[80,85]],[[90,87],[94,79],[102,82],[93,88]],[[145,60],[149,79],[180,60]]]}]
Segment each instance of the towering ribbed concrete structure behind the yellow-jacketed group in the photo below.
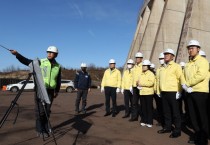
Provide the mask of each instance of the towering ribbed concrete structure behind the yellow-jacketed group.
[{"label": "towering ribbed concrete structure behind the yellow-jacketed group", "polygon": [[196,39],[210,60],[209,8],[209,0],[145,0],[127,59],[142,52],[144,59],[158,65],[159,54],[171,48],[176,62],[187,62],[186,45]]}]

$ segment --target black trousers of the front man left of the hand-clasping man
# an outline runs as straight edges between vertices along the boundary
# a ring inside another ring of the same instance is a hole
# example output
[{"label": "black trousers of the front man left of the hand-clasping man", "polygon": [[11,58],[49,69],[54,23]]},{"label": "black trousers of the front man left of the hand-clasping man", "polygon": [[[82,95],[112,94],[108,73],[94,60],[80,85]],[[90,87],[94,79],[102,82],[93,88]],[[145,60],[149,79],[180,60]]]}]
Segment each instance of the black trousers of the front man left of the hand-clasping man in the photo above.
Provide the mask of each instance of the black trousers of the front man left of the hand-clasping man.
[{"label": "black trousers of the front man left of the hand-clasping man", "polygon": [[172,121],[175,125],[174,132],[181,132],[181,115],[179,101],[176,100],[176,92],[161,92],[164,128],[171,130]]}]

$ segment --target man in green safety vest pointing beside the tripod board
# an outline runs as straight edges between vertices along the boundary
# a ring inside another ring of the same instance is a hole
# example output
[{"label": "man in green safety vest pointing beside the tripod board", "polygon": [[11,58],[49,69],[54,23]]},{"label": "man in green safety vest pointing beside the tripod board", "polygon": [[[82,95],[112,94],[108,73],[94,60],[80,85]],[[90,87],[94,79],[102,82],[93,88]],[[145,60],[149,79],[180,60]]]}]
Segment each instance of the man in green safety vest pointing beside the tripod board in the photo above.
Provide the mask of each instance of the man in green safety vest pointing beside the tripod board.
[{"label": "man in green safety vest pointing beside the tripod board", "polygon": [[[33,60],[25,58],[16,50],[11,50],[11,53],[24,65],[29,65]],[[40,59],[40,68],[46,87],[50,104],[45,104],[46,113],[42,107],[41,100],[35,95],[35,114],[36,114],[36,131],[38,136],[49,137],[51,129],[48,126],[48,119],[51,113],[51,105],[53,99],[58,96],[61,85],[61,67],[55,60],[58,56],[58,49],[55,46],[49,46],[47,49],[47,58]],[[36,89],[36,88],[35,88]],[[47,116],[46,116],[47,115]]]}]

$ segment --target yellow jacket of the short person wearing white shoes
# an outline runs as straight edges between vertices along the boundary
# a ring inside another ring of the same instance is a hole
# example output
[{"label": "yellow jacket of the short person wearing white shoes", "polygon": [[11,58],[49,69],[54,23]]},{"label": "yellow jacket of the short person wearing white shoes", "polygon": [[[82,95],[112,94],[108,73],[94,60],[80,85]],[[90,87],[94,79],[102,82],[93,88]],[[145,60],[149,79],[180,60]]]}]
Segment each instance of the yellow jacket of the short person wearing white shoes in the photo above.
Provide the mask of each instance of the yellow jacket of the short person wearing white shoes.
[{"label": "yellow jacket of the short person wearing white shoes", "polygon": [[140,95],[153,95],[154,94],[154,84],[155,84],[155,75],[150,70],[142,72],[139,76],[139,85],[141,90],[139,91]]}]

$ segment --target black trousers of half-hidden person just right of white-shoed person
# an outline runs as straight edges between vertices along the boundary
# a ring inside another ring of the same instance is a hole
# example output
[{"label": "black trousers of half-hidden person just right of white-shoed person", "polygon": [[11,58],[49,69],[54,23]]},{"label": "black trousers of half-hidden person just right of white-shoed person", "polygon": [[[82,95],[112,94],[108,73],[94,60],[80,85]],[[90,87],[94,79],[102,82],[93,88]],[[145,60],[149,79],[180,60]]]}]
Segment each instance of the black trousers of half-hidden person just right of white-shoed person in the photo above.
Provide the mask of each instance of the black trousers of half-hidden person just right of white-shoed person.
[{"label": "black trousers of half-hidden person just right of white-shoed person", "polygon": [[162,98],[159,97],[157,94],[154,94],[155,104],[156,104],[156,111],[157,111],[157,121],[162,126],[164,125],[164,117],[163,117],[163,105],[162,105]]}]

